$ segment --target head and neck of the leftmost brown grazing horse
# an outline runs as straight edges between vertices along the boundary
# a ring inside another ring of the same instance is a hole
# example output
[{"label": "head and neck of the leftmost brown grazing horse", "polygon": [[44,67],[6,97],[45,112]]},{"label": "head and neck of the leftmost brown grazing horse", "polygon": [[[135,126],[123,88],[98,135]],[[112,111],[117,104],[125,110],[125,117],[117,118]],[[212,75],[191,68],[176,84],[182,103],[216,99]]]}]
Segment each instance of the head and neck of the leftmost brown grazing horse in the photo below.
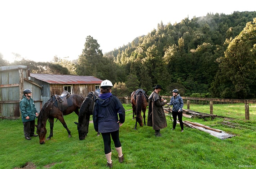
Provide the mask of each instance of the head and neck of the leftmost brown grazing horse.
[{"label": "head and neck of the leftmost brown grazing horse", "polygon": [[43,108],[41,109],[38,119],[37,119],[37,129],[36,129],[36,133],[39,136],[39,143],[40,144],[44,144],[45,143],[45,135],[47,133],[47,130],[45,128],[46,126],[46,122],[47,122],[47,118],[49,116],[50,113],[50,106],[51,103],[47,102],[44,104]]}]

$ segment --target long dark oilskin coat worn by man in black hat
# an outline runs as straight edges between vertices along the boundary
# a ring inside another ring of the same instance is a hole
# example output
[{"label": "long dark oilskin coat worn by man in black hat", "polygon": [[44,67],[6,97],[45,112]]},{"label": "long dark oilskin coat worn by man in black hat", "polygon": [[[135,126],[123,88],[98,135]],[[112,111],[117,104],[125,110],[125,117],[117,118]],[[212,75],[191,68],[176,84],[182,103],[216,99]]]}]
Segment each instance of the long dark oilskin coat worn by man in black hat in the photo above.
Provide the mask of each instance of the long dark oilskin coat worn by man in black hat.
[{"label": "long dark oilskin coat worn by man in black hat", "polygon": [[147,115],[147,126],[152,126],[153,130],[160,130],[167,127],[164,114],[162,97],[154,91],[149,96],[149,111]]}]

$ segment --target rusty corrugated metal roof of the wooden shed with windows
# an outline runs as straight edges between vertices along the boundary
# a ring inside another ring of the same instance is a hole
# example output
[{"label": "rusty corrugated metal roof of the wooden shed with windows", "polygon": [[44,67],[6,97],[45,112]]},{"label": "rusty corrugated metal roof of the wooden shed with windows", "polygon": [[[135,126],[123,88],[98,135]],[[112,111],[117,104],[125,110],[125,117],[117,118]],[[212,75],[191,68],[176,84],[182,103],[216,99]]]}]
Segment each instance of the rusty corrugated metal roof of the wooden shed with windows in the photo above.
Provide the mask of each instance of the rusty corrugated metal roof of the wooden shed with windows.
[{"label": "rusty corrugated metal roof of the wooden shed with windows", "polygon": [[50,84],[100,84],[101,79],[94,76],[76,76],[76,75],[53,75],[53,74],[35,74],[31,77],[45,81]]}]

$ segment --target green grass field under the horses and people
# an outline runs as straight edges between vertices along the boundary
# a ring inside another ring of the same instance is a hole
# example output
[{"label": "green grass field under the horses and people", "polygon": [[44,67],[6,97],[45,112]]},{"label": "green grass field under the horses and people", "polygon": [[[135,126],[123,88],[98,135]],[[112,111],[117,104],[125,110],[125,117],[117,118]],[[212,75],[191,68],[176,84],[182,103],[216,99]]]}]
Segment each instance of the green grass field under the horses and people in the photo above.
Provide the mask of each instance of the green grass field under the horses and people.
[{"label": "green grass field under the horses and people", "polygon": [[[131,105],[124,105],[125,123],[120,127],[124,163],[118,163],[118,155],[112,142],[113,168],[117,169],[234,169],[256,168],[256,105],[250,104],[250,120],[245,120],[244,104],[213,105],[213,114],[234,118],[231,122],[239,126],[231,128],[220,122],[224,118],[185,118],[235,135],[221,140],[210,134],[180,126],[172,131],[167,116],[168,127],[161,130],[162,137],[155,137],[152,127],[143,126],[133,130]],[[186,108],[186,105],[184,105]],[[190,105],[193,111],[209,113],[209,105]],[[146,114],[147,117],[147,114]],[[106,158],[103,141],[97,136],[93,124],[85,140],[78,139],[78,121],[75,113],[64,117],[72,137],[62,124],[54,124],[53,138],[39,144],[38,137],[25,140],[21,120],[0,119],[0,168],[37,168],[37,169],[104,169]],[[92,119],[92,117],[91,117]],[[37,123],[37,122],[36,122]],[[49,136],[49,122],[47,122]],[[25,167],[27,166],[27,167]]]}]

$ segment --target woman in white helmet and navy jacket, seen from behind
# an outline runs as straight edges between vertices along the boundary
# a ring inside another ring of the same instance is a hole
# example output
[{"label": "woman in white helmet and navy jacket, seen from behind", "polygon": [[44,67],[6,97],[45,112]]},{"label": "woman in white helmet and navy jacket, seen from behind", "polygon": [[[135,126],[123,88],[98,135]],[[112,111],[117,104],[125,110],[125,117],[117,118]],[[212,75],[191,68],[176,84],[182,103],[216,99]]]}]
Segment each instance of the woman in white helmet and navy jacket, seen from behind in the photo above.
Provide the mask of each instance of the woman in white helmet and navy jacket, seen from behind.
[{"label": "woman in white helmet and navy jacket, seen from behind", "polygon": [[101,94],[95,100],[93,108],[94,129],[102,135],[107,166],[109,168],[113,166],[111,160],[111,137],[118,152],[119,163],[124,161],[122,146],[119,140],[119,127],[125,121],[125,110],[120,100],[112,95],[112,87],[113,85],[109,80],[101,82]]}]

